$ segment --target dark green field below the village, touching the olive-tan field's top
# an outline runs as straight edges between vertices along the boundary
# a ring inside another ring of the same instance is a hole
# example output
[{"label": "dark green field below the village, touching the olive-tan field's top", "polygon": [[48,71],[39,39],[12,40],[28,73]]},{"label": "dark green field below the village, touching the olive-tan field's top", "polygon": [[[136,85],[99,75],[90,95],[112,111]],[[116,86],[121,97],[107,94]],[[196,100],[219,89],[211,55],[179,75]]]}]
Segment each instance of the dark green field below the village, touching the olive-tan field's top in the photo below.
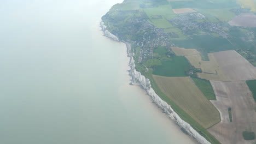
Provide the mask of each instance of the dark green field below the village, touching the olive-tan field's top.
[{"label": "dark green field below the village, touching the olive-tan field's top", "polygon": [[186,69],[190,69],[190,64],[183,56],[172,57],[172,61],[163,61],[157,66],[153,74],[160,76],[187,76]]}]

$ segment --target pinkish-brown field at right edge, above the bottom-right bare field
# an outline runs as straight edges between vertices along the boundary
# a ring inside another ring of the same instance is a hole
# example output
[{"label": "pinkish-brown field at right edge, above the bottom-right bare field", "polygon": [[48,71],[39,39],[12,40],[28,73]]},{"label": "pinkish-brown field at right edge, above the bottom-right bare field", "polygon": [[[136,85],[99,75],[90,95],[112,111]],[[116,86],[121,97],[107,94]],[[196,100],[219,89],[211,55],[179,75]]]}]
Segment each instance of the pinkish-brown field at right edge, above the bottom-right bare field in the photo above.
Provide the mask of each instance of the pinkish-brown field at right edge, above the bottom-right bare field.
[{"label": "pinkish-brown field at right edge, above the bottom-right bare field", "polygon": [[220,51],[212,55],[229,81],[256,79],[256,68],[236,51]]}]

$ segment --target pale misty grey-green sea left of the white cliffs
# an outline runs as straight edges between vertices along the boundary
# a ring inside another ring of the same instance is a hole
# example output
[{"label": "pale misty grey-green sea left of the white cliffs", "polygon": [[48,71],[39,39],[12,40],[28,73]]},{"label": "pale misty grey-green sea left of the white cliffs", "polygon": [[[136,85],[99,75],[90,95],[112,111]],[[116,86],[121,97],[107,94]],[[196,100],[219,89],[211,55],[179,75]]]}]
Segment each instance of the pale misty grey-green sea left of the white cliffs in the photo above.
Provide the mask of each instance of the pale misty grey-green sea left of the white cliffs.
[{"label": "pale misty grey-green sea left of the white cliffs", "polygon": [[0,2],[0,143],[195,143],[130,86],[99,31],[122,1]]}]

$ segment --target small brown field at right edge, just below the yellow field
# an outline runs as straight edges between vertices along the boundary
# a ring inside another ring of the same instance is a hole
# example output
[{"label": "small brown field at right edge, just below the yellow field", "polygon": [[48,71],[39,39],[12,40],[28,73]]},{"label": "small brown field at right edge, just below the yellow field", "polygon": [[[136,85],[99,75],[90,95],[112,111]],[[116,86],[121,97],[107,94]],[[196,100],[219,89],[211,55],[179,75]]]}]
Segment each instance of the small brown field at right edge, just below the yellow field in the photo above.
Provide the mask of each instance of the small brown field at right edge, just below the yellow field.
[{"label": "small brown field at right edge, just below the yellow field", "polygon": [[229,21],[231,26],[256,27],[256,15],[253,13],[241,13]]}]

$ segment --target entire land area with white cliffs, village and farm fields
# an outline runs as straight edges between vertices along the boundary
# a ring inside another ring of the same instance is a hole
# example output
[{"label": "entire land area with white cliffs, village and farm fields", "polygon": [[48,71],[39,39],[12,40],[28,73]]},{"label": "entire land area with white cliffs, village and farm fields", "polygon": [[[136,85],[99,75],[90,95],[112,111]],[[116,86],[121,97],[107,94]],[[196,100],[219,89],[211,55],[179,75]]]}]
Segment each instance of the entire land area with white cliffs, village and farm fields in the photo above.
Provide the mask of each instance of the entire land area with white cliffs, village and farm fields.
[{"label": "entire land area with white cliffs, village and farm fields", "polygon": [[256,79],[256,28],[229,22],[243,13],[254,15],[231,0],[126,0],[101,27],[126,44],[132,83],[185,133],[199,143],[249,144],[256,142],[248,82]]}]

